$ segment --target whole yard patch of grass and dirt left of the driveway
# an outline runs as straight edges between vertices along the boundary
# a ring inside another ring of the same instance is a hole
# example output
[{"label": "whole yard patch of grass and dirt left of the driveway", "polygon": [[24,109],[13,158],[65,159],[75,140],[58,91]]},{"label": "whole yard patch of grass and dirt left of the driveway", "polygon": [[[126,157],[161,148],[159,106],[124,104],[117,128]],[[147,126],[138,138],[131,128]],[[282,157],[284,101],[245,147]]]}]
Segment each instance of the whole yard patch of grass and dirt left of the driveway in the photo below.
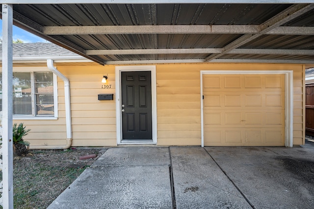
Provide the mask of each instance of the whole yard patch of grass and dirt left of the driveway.
[{"label": "whole yard patch of grass and dirt left of the driveway", "polygon": [[[14,156],[14,209],[46,209],[105,151],[106,149],[29,150],[25,157]],[[79,159],[80,156],[91,154],[96,157]]]}]

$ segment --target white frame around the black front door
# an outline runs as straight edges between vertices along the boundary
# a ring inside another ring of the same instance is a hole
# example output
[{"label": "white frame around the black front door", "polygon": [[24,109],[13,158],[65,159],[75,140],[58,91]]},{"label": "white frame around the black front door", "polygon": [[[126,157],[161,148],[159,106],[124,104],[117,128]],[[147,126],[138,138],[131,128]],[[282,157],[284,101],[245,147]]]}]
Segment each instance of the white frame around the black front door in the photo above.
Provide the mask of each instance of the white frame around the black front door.
[{"label": "white frame around the black front door", "polygon": [[[131,142],[122,141],[122,103],[121,103],[121,72],[125,71],[151,71],[152,79],[152,138],[153,141]],[[156,88],[156,66],[155,65],[138,65],[138,66],[116,66],[115,67],[116,83],[116,131],[117,144],[157,144],[157,88]]]}]

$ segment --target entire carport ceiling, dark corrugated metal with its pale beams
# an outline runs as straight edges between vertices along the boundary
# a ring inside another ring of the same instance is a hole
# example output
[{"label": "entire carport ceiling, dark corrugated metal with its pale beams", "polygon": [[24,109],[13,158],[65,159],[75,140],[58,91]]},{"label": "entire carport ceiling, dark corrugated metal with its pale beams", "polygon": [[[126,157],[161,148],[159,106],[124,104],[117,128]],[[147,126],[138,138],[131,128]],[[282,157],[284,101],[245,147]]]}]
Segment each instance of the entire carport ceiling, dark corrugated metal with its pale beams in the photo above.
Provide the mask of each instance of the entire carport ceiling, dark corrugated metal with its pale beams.
[{"label": "entire carport ceiling, dark corrugated metal with its pale beams", "polygon": [[314,4],[14,4],[13,19],[101,64],[314,63]]}]

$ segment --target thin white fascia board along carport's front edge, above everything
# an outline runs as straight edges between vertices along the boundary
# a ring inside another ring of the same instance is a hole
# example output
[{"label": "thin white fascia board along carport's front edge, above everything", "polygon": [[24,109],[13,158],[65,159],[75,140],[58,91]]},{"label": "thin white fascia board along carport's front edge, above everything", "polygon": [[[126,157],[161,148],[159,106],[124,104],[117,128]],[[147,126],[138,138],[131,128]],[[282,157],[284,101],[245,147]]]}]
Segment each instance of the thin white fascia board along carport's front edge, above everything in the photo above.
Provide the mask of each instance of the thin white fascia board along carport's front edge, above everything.
[{"label": "thin white fascia board along carport's front edge, above everything", "polygon": [[[313,0],[154,0],[154,3],[313,3]],[[151,4],[151,0],[2,0],[7,4],[74,4],[74,3],[107,3],[107,4]]]}]

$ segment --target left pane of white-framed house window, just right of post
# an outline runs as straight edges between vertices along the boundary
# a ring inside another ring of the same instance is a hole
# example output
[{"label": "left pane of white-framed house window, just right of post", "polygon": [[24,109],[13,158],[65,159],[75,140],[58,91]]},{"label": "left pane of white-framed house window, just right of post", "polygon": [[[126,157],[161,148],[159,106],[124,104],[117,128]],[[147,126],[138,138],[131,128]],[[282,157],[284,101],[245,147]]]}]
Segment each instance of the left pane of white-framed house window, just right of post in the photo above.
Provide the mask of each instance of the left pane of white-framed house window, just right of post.
[{"label": "left pane of white-framed house window, just right of post", "polygon": [[30,73],[13,73],[13,115],[31,115]]}]

